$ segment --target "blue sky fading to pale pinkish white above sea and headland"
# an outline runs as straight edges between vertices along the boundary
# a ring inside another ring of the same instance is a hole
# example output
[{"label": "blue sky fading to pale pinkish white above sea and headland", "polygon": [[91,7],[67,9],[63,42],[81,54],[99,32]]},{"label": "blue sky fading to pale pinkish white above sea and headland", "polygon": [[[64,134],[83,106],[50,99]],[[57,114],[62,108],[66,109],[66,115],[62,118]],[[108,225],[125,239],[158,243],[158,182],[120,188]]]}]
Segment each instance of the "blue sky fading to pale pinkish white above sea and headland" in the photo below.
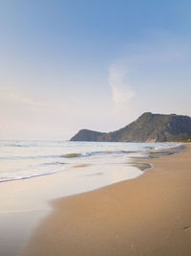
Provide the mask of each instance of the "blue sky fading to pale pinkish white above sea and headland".
[{"label": "blue sky fading to pale pinkish white above sea and headland", "polygon": [[0,0],[0,139],[191,116],[191,2]]}]

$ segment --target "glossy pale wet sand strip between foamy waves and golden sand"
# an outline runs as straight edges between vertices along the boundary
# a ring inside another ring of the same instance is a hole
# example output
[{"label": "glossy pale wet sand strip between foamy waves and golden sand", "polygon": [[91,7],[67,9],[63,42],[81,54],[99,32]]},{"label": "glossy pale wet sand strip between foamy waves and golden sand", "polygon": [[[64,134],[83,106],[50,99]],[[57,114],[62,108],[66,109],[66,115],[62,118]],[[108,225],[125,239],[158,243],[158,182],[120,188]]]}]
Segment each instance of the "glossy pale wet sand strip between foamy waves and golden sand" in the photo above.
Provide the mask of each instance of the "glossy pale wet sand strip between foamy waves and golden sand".
[{"label": "glossy pale wet sand strip between foamy waves and golden sand", "polygon": [[[145,162],[144,159],[143,161]],[[132,159],[131,164],[136,162],[138,160]],[[100,164],[80,166],[81,168],[71,170],[69,168],[68,172],[58,172],[53,175],[37,175],[34,178],[1,182],[1,253],[4,256],[14,256],[20,251],[29,241],[36,226],[52,213],[53,205],[49,203],[51,200],[96,191],[121,180],[137,178],[138,173],[143,174],[138,171],[137,166],[130,165],[128,161],[126,164],[127,166],[124,163],[123,167],[125,173],[127,170],[132,170],[133,175],[137,175],[125,178],[122,169],[118,171],[123,175],[118,175],[117,165]]]}]

